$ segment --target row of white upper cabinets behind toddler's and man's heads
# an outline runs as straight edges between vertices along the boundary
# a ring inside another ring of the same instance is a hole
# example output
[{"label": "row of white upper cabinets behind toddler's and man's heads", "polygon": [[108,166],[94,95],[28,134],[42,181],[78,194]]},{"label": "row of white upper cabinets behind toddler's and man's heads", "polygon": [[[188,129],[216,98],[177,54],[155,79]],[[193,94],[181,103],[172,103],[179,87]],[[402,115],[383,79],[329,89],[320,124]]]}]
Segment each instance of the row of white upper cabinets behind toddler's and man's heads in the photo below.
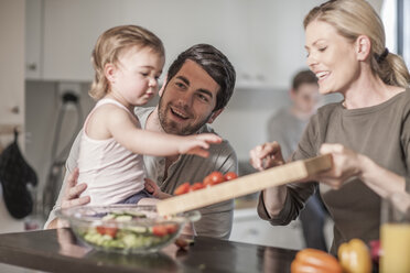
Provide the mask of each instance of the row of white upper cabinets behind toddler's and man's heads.
[{"label": "row of white upper cabinets behind toddler's and man's heads", "polygon": [[305,66],[302,20],[319,2],[30,0],[28,78],[90,81],[98,35],[115,25],[139,24],[164,42],[165,68],[188,46],[209,43],[234,64],[238,87],[284,88]]}]

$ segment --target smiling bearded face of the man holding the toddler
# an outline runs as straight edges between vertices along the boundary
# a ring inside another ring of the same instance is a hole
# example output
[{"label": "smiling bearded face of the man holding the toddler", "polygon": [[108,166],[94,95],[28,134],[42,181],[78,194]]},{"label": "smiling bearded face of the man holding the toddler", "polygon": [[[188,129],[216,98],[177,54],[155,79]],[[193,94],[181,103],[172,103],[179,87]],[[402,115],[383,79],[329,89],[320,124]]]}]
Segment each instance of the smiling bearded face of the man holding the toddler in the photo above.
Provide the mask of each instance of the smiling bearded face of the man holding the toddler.
[{"label": "smiling bearded face of the man holding the toddler", "polygon": [[217,116],[213,110],[219,85],[195,62],[185,61],[160,90],[159,119],[166,133],[187,135]]}]

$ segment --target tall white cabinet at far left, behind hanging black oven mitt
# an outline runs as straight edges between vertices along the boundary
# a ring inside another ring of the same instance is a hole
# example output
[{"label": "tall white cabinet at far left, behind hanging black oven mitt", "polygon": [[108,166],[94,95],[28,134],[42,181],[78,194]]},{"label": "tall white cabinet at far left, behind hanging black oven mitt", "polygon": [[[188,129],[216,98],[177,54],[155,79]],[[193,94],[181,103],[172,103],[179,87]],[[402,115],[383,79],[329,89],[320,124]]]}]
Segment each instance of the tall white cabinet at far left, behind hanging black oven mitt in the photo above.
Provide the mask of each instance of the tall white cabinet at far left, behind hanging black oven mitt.
[{"label": "tall white cabinet at far left, behind hanging black oven mitt", "polygon": [[[0,1],[0,146],[13,141],[15,127],[24,130],[24,0]],[[0,232],[23,230],[23,222],[6,209],[1,188],[0,219]]]}]

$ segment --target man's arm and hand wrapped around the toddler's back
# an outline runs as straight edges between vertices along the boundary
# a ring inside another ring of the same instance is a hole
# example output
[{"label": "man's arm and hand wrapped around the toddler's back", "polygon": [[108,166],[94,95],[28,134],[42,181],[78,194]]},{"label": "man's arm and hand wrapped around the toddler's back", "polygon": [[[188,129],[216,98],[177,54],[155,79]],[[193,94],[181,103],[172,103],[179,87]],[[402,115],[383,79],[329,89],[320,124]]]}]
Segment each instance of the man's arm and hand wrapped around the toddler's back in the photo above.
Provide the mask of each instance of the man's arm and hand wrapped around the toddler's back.
[{"label": "man's arm and hand wrapped around the toddler's back", "polygon": [[55,210],[58,208],[68,208],[74,206],[80,206],[89,203],[89,196],[84,196],[78,198],[78,196],[85,190],[86,184],[77,184],[78,171],[77,159],[79,154],[79,140],[82,131],[78,133],[75,139],[72,150],[69,151],[68,159],[66,161],[66,172],[62,188],[58,194],[58,198],[53,207],[53,210],[48,215],[47,221],[44,223],[44,229],[58,228],[60,222],[55,216]]}]

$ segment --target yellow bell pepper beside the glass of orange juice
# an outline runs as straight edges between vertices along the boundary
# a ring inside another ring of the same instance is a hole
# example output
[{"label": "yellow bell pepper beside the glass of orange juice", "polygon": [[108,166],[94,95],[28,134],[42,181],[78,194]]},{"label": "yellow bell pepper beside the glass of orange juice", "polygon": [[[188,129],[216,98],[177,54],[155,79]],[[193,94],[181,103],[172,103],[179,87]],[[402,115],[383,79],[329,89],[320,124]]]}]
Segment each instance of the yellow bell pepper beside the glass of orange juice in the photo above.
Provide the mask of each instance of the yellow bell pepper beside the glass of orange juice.
[{"label": "yellow bell pepper beside the glass of orange juice", "polygon": [[342,243],[337,251],[342,267],[346,273],[370,273],[371,258],[369,250],[362,240],[352,239]]}]

